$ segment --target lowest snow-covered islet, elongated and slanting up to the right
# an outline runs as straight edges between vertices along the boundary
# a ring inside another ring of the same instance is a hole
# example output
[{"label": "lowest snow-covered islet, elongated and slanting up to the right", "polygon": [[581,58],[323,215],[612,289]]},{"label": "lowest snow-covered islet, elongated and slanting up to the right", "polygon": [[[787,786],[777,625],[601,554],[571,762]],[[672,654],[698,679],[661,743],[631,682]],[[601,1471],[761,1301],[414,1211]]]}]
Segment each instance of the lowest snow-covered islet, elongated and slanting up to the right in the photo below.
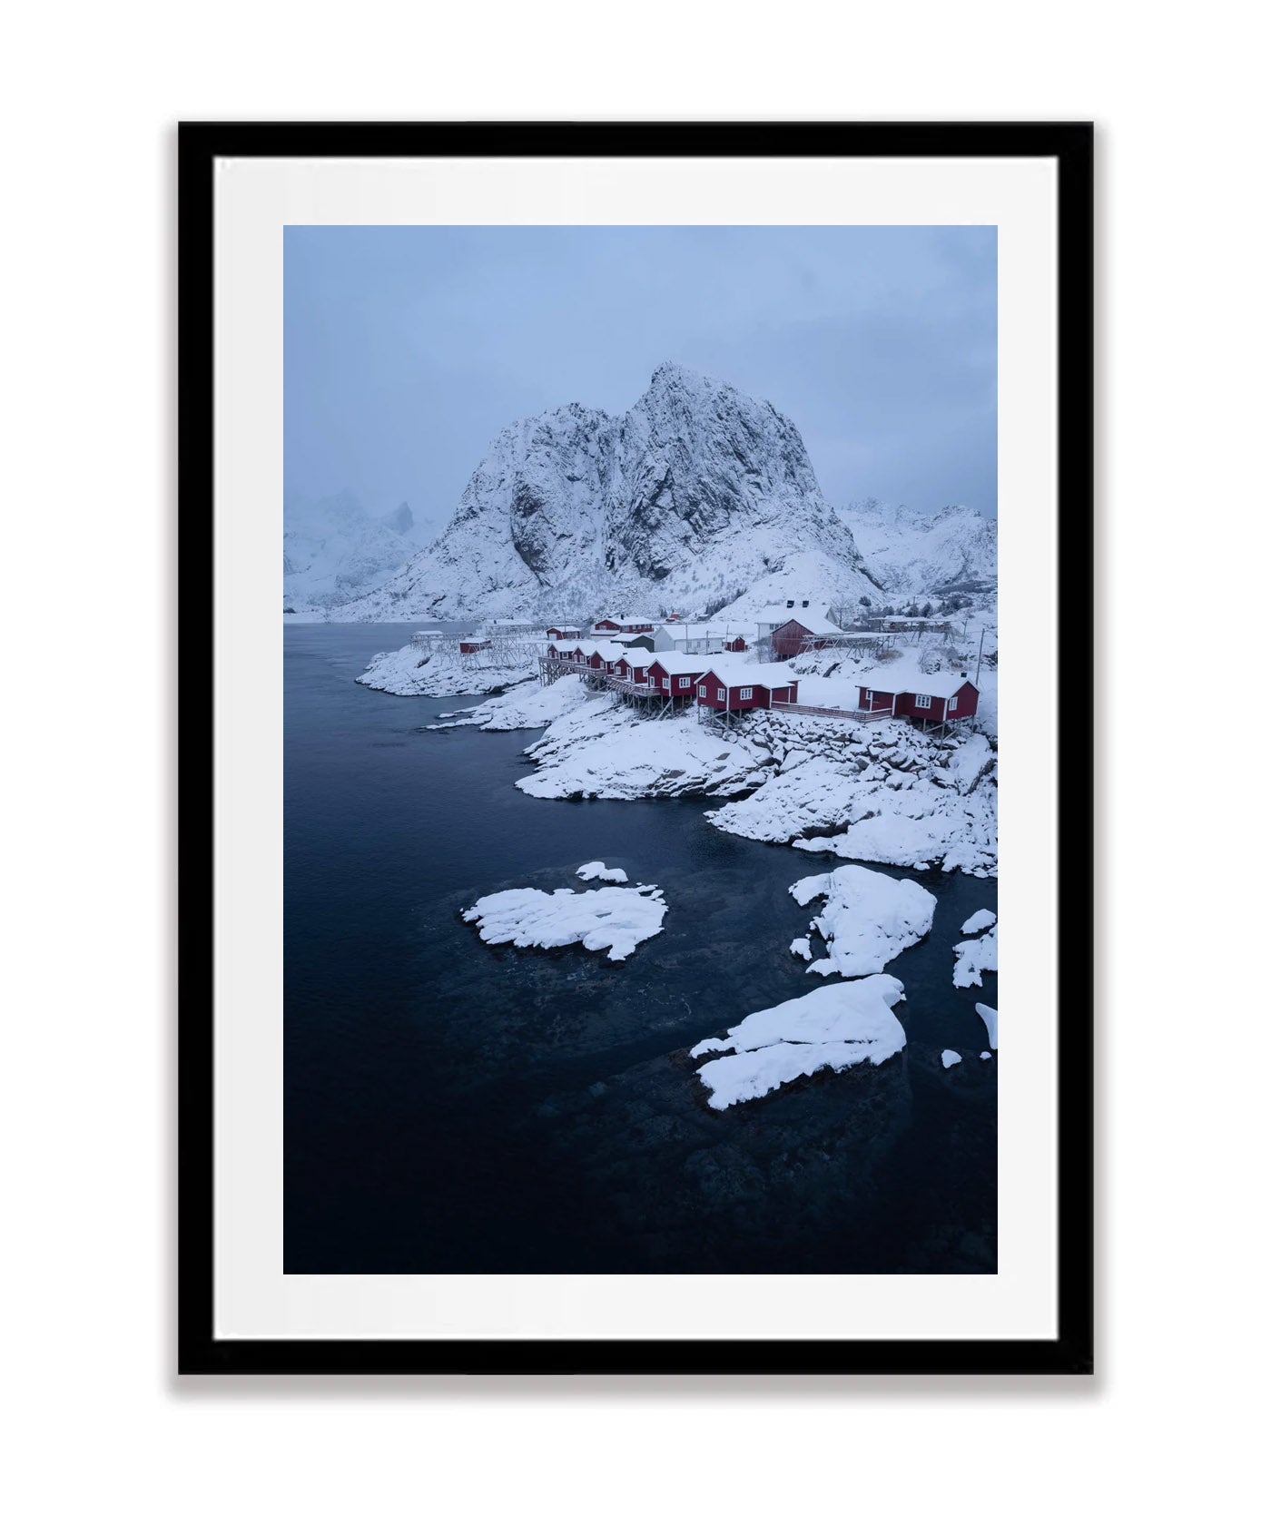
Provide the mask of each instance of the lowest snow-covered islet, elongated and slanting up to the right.
[{"label": "lowest snow-covered islet, elongated and slanting up to the right", "polygon": [[752,1011],[726,1037],[699,1043],[690,1057],[725,1055],[697,1071],[710,1106],[723,1110],[819,1069],[882,1064],[905,1048],[905,1029],[891,1011],[903,999],[905,987],[891,974],[824,985]]}]

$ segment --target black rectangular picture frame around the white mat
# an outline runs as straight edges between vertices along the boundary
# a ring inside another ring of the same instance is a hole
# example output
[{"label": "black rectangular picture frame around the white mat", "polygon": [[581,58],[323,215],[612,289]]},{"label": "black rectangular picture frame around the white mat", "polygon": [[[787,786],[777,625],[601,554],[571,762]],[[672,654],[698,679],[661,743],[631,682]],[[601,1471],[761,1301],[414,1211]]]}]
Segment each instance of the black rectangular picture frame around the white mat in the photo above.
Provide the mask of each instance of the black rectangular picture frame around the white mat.
[{"label": "black rectangular picture frame around the white mat", "polygon": [[[1094,1369],[1092,148],[1088,122],[388,124],[179,128],[180,1374],[1085,1374]],[[1057,1337],[1053,1340],[217,1339],[212,747],[214,166],[221,157],[1031,157],[1057,166]]]}]

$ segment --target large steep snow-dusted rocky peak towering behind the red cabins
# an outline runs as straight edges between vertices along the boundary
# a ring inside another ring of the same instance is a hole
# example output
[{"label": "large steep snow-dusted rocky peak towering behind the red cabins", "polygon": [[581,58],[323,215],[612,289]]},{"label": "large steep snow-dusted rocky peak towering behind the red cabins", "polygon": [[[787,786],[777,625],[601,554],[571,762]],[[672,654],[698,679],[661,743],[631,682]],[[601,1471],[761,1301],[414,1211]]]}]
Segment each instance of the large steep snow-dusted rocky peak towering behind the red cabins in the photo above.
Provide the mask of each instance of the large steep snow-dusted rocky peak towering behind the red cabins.
[{"label": "large steep snow-dusted rocky peak towering behind the red cabins", "polygon": [[339,618],[700,613],[795,592],[877,592],[798,430],[769,403],[664,364],[621,418],[571,403],[510,424],[436,544]]}]

